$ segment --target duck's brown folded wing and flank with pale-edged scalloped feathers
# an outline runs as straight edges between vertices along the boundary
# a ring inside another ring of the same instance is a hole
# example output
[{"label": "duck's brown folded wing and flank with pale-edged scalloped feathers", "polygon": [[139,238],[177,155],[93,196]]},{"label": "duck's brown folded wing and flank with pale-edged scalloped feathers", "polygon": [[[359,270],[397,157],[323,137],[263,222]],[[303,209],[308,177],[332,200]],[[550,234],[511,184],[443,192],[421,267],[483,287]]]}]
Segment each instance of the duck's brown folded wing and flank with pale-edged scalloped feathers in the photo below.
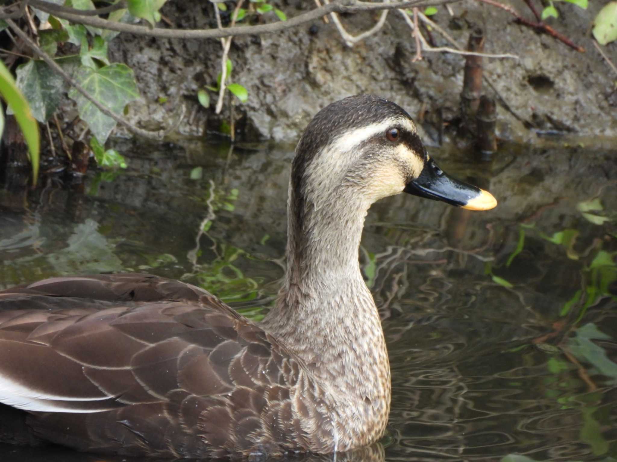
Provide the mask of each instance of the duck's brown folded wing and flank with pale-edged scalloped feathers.
[{"label": "duck's brown folded wing and flank with pale-edged scalloped feathers", "polygon": [[[11,309],[29,300],[38,309]],[[205,457],[331,448],[331,405],[294,355],[209,293],[149,275],[0,292],[0,378],[36,392],[29,423],[39,437],[81,450]],[[64,411],[37,411],[46,396]]]}]

